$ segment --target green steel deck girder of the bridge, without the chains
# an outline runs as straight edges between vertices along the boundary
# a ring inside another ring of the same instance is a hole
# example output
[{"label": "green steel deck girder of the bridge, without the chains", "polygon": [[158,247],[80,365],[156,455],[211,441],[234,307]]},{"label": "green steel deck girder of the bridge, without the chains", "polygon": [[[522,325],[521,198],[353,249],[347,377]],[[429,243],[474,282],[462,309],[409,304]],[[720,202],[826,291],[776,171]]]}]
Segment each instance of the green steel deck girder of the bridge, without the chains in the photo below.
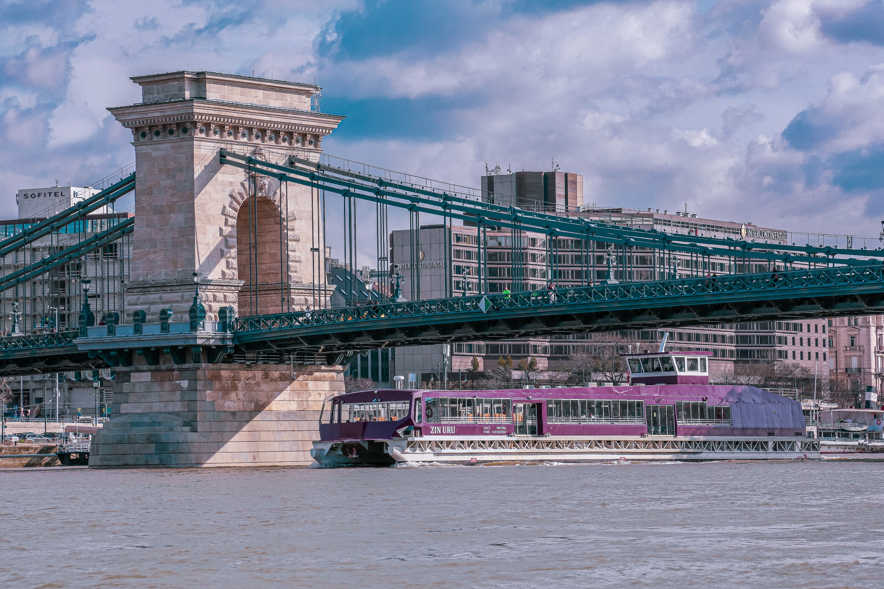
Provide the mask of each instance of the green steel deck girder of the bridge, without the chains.
[{"label": "green steel deck girder of the bridge, without the chains", "polygon": [[[384,347],[884,313],[884,267],[606,284],[240,317],[232,353]],[[77,332],[0,338],[0,376],[108,366]],[[107,353],[122,358],[126,336]],[[130,354],[131,356],[131,354]],[[217,356],[226,361],[227,356]]]}]

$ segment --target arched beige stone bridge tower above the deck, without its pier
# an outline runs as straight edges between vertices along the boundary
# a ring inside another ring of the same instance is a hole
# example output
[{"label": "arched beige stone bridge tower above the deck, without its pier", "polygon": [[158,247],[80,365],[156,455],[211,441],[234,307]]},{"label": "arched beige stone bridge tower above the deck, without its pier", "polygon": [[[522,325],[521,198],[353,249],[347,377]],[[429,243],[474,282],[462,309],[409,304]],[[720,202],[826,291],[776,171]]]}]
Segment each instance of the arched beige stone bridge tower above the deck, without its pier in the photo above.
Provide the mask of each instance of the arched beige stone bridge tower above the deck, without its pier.
[{"label": "arched beige stone bridge tower above the deck, without its pier", "polygon": [[133,81],[141,102],[109,109],[135,147],[128,306],[186,315],[197,272],[210,319],[221,306],[238,315],[316,307],[326,288],[315,191],[221,166],[218,149],[317,161],[343,117],[311,110],[319,88],[309,84],[214,72]]}]

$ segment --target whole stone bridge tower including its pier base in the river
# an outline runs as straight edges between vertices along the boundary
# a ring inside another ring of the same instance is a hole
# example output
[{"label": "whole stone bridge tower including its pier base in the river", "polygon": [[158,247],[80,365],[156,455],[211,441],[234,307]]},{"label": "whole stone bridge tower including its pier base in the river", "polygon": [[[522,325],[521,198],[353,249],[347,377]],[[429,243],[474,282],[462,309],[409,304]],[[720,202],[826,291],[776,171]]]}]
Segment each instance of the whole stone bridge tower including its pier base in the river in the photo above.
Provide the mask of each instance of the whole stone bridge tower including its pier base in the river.
[{"label": "whole stone bridge tower including its pier base in the river", "polygon": [[[110,109],[132,130],[136,158],[124,321],[138,313],[156,323],[163,309],[187,321],[194,272],[210,321],[222,307],[278,313],[326,298],[318,193],[218,158],[225,147],[268,162],[317,161],[343,118],[310,109],[319,88],[214,72],[133,81],[141,102]],[[228,334],[172,331],[89,338],[96,355],[118,362],[112,418],[90,466],[311,462],[322,400],[344,389],[340,366],[289,366],[281,355],[238,364],[215,353],[230,349]]]}]

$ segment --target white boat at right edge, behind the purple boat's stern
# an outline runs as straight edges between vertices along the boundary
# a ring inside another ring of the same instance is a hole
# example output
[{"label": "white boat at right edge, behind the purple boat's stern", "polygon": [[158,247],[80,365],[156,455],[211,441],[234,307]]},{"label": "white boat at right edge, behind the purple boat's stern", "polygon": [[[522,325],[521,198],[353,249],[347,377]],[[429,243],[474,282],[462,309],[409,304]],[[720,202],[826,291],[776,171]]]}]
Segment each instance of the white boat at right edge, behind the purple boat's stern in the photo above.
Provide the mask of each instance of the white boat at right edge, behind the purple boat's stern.
[{"label": "white boat at right edge, behind the purple boat's stern", "polygon": [[824,458],[884,458],[884,410],[819,412],[817,435]]}]

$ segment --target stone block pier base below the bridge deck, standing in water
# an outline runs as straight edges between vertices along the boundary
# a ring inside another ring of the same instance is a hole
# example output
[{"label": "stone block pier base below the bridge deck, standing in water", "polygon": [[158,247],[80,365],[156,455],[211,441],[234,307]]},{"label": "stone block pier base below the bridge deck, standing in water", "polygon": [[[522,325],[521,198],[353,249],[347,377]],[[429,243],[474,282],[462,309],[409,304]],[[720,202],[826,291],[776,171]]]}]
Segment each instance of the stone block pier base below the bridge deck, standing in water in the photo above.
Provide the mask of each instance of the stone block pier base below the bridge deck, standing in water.
[{"label": "stone block pier base below the bridge deck, standing in water", "polygon": [[[93,438],[89,466],[307,465],[341,366],[118,367],[113,417]],[[293,378],[294,377],[294,378]]]}]

